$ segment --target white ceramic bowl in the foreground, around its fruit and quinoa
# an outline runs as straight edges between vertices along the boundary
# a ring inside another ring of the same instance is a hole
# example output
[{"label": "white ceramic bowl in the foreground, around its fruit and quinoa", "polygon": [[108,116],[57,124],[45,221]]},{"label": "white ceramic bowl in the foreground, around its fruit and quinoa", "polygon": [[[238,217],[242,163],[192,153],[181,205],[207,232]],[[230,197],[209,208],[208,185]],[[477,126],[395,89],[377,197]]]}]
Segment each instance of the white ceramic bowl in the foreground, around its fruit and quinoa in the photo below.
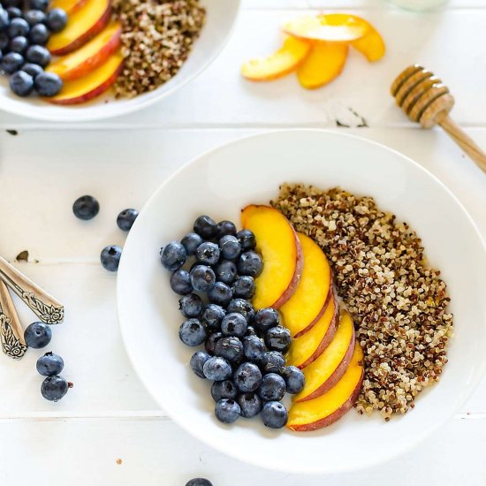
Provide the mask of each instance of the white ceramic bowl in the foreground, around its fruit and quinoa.
[{"label": "white ceramic bowl in the foreground, around its fruit and quinoa", "polygon": [[[209,383],[194,376],[194,348],[178,339],[178,297],[159,248],[181,238],[196,216],[239,221],[248,203],[268,203],[282,182],[341,186],[369,194],[421,235],[452,296],[455,335],[440,383],[414,410],[389,422],[355,411],[327,429],[295,433],[213,416]],[[366,467],[410,449],[456,413],[485,368],[486,258],[475,224],[428,171],[389,148],[349,135],[284,131],[237,140],[197,158],[148,201],[126,241],[118,272],[118,312],[126,350],[148,391],[174,421],[235,458],[292,473]],[[161,439],[163,440],[163,439]]]}]

